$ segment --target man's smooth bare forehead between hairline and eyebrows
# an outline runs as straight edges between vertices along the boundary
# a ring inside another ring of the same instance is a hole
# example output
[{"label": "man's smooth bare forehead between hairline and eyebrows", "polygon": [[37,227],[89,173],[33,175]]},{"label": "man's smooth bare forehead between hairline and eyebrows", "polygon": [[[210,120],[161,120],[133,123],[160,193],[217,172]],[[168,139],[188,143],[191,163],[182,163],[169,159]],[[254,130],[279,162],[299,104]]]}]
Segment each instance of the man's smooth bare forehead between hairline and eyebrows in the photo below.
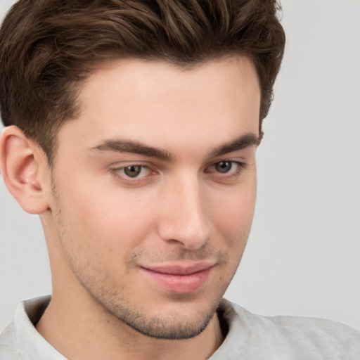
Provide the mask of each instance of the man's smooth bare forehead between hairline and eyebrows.
[{"label": "man's smooth bare forehead between hairline and eyebrows", "polygon": [[87,79],[79,102],[81,114],[60,129],[59,144],[74,141],[91,148],[119,137],[176,153],[194,143],[216,147],[231,137],[258,134],[259,83],[245,57],[190,69],[118,60]]}]

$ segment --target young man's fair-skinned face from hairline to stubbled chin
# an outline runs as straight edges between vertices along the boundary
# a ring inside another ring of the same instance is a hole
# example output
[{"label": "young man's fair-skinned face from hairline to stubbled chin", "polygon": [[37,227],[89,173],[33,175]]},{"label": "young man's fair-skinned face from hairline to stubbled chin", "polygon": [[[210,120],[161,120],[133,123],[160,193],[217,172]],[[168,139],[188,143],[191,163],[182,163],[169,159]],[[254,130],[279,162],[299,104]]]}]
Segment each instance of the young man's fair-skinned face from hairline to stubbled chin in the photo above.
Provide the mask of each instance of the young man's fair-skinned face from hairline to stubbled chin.
[{"label": "young man's fair-skinned face from hairline to stubbled chin", "polygon": [[95,300],[141,333],[191,338],[212,319],[250,231],[255,68],[246,58],[191,70],[121,60],[92,75],[79,101],[52,174],[53,296],[78,287],[82,304]]}]

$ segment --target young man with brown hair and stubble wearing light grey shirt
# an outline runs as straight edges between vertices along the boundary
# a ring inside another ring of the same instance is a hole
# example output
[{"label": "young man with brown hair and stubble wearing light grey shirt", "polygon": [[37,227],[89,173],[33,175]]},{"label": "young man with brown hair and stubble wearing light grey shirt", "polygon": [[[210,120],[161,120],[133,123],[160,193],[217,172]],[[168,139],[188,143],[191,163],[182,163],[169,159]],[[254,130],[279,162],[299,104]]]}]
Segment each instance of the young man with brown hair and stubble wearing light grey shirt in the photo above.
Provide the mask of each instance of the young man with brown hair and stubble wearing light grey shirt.
[{"label": "young man with brown hair and stubble wearing light grey shirt", "polygon": [[359,359],[331,321],[221,300],[283,55],[274,1],[19,1],[0,32],[1,171],[53,293],[0,359]]}]

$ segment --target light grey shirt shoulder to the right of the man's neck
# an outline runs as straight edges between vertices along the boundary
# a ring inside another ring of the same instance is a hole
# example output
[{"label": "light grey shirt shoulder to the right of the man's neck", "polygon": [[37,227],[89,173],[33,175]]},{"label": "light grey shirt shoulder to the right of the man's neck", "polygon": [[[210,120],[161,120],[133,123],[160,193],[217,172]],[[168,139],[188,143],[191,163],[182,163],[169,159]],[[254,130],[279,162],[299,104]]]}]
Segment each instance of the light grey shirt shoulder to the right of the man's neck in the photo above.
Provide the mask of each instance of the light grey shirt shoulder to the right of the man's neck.
[{"label": "light grey shirt shoulder to the right of the man's neck", "polygon": [[360,359],[360,331],[341,323],[298,316],[260,316],[226,300],[219,311],[229,326],[223,343],[233,349],[233,357],[228,359],[237,359],[239,354],[243,359],[257,360]]}]

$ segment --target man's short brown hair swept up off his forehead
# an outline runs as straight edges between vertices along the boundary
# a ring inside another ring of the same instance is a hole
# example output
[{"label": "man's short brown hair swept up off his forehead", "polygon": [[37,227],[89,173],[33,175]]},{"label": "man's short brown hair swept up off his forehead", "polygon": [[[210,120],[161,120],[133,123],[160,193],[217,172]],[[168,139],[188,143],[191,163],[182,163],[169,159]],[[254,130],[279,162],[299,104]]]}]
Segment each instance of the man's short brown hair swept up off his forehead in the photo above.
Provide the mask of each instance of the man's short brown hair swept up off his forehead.
[{"label": "man's short brown hair swept up off his forehead", "polygon": [[194,65],[248,56],[268,113],[285,34],[276,0],[20,0],[0,31],[0,106],[53,159],[56,134],[77,117],[82,80],[106,60]]}]

